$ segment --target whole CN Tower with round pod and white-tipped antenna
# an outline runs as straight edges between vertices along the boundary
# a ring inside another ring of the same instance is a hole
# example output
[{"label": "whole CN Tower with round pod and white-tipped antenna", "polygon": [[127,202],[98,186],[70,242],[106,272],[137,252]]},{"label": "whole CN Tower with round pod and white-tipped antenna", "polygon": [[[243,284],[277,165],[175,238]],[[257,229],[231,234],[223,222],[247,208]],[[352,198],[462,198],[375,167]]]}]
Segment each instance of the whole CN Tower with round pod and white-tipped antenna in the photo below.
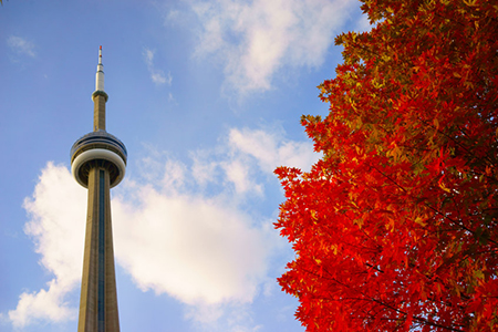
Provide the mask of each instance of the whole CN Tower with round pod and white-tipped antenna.
[{"label": "whole CN Tower with round pod and white-tipped antenna", "polygon": [[116,277],[111,222],[111,188],[124,178],[126,147],[105,131],[104,66],[102,46],[92,94],[93,132],[71,148],[73,177],[89,189],[86,236],[81,282],[79,332],[120,331]]}]

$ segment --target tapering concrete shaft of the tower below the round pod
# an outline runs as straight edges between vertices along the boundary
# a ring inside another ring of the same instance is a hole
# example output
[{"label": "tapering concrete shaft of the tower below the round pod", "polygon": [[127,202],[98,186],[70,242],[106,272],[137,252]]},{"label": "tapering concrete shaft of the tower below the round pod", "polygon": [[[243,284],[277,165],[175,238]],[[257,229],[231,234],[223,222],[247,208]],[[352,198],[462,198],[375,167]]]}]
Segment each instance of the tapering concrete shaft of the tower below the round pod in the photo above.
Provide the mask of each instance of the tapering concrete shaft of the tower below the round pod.
[{"label": "tapering concrete shaft of the tower below the round pod", "polygon": [[89,209],[77,331],[117,332],[120,321],[111,222],[110,165],[95,159],[89,166]]}]

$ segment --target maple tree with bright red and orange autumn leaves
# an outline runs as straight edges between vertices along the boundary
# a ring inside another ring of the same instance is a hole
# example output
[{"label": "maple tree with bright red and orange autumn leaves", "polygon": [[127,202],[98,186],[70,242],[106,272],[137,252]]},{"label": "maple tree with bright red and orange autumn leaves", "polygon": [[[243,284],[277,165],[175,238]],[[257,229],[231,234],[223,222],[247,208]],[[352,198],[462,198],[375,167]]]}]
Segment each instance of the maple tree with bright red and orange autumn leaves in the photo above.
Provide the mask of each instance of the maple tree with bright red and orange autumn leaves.
[{"label": "maple tree with bright red and orange autumn leaves", "polygon": [[307,331],[498,331],[498,3],[363,0],[373,29],[279,167],[279,278]]}]

